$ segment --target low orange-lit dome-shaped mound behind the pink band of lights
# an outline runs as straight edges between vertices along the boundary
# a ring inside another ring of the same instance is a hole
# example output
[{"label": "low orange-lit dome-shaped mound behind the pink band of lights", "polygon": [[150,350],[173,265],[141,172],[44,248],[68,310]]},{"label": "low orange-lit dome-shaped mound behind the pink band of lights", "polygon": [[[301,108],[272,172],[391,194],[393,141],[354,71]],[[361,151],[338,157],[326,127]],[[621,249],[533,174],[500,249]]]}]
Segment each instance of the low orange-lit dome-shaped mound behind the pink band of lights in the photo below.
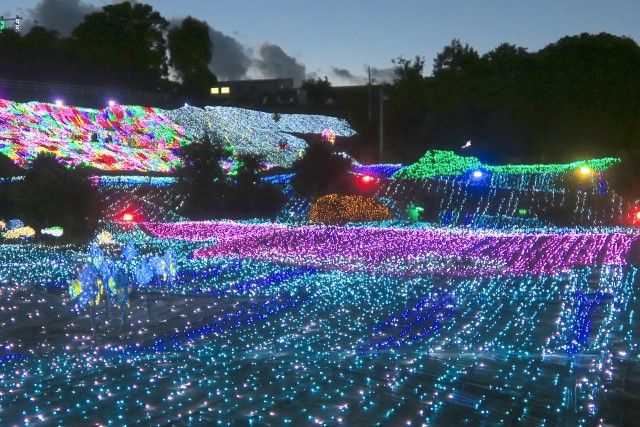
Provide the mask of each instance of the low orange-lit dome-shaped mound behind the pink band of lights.
[{"label": "low orange-lit dome-shaped mound behind the pink band of lights", "polygon": [[[364,176],[361,179],[373,178]],[[370,185],[370,181],[366,181]],[[328,194],[311,204],[309,220],[323,224],[344,224],[346,222],[384,221],[392,219],[388,207],[372,197],[341,196]]]}]

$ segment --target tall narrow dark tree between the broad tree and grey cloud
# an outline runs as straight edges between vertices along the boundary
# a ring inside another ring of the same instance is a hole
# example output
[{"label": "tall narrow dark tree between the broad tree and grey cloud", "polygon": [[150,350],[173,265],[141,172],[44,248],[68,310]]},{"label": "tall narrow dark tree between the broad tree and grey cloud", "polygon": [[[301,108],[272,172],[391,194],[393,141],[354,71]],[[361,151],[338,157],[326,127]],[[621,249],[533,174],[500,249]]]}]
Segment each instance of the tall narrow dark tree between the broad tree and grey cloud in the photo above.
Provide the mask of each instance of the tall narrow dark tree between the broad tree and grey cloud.
[{"label": "tall narrow dark tree between the broad tree and grey cloud", "polygon": [[185,91],[192,96],[208,94],[216,77],[209,70],[213,43],[207,23],[189,16],[169,31],[168,40],[170,63],[180,75]]}]

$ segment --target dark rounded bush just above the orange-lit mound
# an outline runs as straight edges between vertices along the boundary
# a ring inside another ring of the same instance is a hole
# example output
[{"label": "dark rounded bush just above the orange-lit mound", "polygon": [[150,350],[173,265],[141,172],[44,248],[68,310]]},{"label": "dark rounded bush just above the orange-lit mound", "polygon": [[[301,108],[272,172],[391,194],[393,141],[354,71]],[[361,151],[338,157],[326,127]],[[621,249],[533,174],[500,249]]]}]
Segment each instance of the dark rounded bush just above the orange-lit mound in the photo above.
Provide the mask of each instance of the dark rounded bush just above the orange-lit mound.
[{"label": "dark rounded bush just above the orange-lit mound", "polygon": [[312,143],[293,165],[293,189],[304,196],[347,193],[352,181],[350,171],[350,158],[335,153],[327,143]]}]

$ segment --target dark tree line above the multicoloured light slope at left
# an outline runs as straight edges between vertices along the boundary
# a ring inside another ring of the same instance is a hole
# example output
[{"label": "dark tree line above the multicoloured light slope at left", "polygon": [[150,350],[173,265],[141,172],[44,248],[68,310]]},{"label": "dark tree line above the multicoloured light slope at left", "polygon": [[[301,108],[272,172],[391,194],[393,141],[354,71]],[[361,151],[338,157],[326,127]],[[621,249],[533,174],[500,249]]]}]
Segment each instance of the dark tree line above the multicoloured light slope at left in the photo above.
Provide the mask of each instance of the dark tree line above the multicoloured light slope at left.
[{"label": "dark tree line above the multicoloured light slope at left", "polygon": [[170,27],[151,6],[122,2],[88,14],[69,37],[41,26],[1,32],[0,76],[179,92],[197,101],[216,82],[212,54],[206,22],[187,17]]}]

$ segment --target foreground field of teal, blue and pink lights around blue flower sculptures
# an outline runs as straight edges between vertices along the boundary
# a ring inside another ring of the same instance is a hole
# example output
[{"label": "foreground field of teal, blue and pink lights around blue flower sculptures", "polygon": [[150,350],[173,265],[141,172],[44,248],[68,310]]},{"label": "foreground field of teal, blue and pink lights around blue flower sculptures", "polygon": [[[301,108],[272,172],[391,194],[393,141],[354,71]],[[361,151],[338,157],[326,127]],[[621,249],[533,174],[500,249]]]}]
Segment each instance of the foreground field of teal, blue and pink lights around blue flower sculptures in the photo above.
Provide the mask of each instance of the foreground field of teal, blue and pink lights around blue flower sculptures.
[{"label": "foreground field of teal, blue and pink lights around blue flower sculptures", "polygon": [[[637,417],[629,229],[149,223],[126,320],[86,248],[0,246],[0,425],[590,425]],[[635,404],[635,406],[634,406]]]}]

